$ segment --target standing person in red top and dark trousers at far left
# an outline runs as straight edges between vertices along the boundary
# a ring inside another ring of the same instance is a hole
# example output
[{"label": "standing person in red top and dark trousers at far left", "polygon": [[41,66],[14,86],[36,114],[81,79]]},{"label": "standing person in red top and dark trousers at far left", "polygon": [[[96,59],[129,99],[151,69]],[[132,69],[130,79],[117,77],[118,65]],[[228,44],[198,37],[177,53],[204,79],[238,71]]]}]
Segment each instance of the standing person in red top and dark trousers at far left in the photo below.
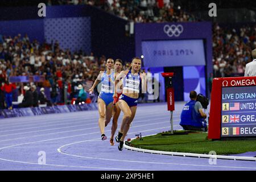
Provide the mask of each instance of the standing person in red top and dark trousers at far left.
[{"label": "standing person in red top and dark trousers at far left", "polygon": [[5,92],[5,101],[8,109],[13,109],[13,91],[16,89],[16,85],[6,81],[5,84],[2,85],[1,90]]}]

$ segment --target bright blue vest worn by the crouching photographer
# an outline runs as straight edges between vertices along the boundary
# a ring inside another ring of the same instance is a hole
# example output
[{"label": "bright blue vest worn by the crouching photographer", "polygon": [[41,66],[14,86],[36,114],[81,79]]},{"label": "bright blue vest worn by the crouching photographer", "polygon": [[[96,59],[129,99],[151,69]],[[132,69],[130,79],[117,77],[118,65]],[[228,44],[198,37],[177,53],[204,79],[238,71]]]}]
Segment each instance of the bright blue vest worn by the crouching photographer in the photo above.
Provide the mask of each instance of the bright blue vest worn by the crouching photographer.
[{"label": "bright blue vest worn by the crouching photographer", "polygon": [[201,117],[200,113],[197,113],[195,110],[195,104],[197,101],[191,100],[185,104],[183,107],[183,110],[181,112],[180,116],[180,125],[185,126],[193,126],[193,127],[198,127],[202,128],[205,127],[206,123],[203,117]]}]

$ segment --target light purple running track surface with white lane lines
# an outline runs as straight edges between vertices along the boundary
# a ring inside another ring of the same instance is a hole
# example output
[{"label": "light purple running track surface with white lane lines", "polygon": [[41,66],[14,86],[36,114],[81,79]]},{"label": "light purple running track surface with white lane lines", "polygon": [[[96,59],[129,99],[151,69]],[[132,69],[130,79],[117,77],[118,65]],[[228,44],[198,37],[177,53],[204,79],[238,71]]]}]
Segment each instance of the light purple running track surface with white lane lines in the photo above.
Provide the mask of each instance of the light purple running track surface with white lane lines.
[{"label": "light purple running track surface with white lane lines", "polygon": [[[184,102],[175,104],[174,129]],[[122,114],[119,117],[118,129]],[[256,162],[143,154],[101,141],[98,111],[49,114],[0,120],[0,170],[256,170]],[[170,130],[166,103],[140,104],[127,137]],[[235,146],[234,146],[235,147]],[[38,164],[38,152],[46,164]]]}]

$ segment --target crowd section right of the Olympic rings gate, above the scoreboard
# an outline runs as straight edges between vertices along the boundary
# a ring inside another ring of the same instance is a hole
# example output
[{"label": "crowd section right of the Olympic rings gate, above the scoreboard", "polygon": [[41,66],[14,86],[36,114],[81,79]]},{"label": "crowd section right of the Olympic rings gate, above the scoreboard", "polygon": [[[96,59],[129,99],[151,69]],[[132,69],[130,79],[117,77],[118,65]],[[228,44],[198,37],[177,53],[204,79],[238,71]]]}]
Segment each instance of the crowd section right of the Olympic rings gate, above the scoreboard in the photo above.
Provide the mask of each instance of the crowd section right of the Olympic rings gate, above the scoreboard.
[{"label": "crowd section right of the Olympic rings gate, above the scoreboard", "polygon": [[256,48],[256,26],[240,30],[213,26],[213,77],[243,76]]}]

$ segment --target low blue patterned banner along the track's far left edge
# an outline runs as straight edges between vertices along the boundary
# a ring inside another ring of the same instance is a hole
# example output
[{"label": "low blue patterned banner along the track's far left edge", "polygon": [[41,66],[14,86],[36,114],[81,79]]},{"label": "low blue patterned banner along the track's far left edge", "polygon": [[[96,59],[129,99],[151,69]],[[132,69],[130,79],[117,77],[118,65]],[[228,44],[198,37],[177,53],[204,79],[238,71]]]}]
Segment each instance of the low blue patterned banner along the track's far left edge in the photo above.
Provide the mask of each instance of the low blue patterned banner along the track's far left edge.
[{"label": "low blue patterned banner along the track's far left edge", "polygon": [[97,103],[81,104],[81,105],[63,105],[63,106],[48,106],[48,107],[26,107],[14,108],[12,110],[0,110],[0,119],[15,118],[23,116],[34,116],[43,114],[56,114],[56,113],[72,113],[85,110],[97,110]]}]

